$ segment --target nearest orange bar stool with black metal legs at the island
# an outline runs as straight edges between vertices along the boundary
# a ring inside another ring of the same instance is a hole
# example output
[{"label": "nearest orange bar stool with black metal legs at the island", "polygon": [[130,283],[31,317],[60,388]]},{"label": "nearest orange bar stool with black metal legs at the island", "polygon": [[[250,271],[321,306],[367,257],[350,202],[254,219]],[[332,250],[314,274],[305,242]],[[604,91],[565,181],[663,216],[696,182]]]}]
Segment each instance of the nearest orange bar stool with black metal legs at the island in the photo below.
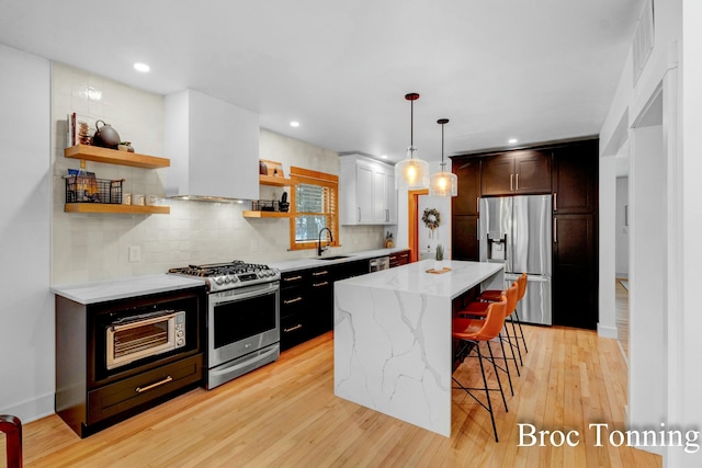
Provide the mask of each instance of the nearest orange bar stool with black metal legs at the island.
[{"label": "nearest orange bar stool with black metal legs at the island", "polygon": [[[480,319],[466,319],[466,318],[455,318],[453,319],[453,338],[458,341],[457,350],[454,355],[454,373],[455,370],[463,364],[465,357],[468,354],[476,350],[478,363],[480,363],[480,374],[483,375],[483,385],[484,387],[466,387],[461,384],[455,377],[453,381],[455,381],[458,387],[465,390],[466,393],[475,401],[477,401],[483,408],[485,408],[490,413],[490,421],[492,422],[492,432],[495,433],[495,442],[499,442],[497,437],[497,426],[495,425],[495,411],[492,410],[492,401],[490,399],[490,391],[498,391],[502,396],[502,403],[505,403],[505,411],[509,412],[507,408],[507,400],[505,399],[505,392],[502,391],[502,383],[500,381],[500,375],[497,372],[497,365],[495,364],[495,356],[492,355],[492,347],[487,344],[487,349],[489,351],[490,357],[487,358],[483,356],[480,352],[480,342],[489,342],[494,340],[502,329],[505,324],[505,309],[507,308],[507,297],[505,296],[499,303],[490,303],[486,310],[485,320]],[[498,388],[490,388],[487,385],[487,377],[485,376],[485,366],[483,364],[483,359],[490,361],[492,363],[492,368],[495,369],[495,377],[497,378]],[[484,403],[479,398],[477,398],[472,390],[475,391],[485,391],[485,397],[487,400],[487,404]]]}]

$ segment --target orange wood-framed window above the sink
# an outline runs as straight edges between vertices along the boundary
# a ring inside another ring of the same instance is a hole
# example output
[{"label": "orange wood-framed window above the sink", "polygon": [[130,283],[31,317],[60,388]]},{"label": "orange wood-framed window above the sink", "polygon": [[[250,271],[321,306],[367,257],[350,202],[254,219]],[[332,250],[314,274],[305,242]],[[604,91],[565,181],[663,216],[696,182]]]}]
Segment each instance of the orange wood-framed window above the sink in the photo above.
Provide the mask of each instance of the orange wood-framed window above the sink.
[{"label": "orange wood-framed window above the sink", "polygon": [[333,241],[329,241],[329,232],[321,236],[322,246],[339,246],[338,192],[339,178],[324,172],[302,168],[291,168],[291,178],[295,185],[291,191],[290,221],[291,250],[316,249],[319,231],[331,230]]}]

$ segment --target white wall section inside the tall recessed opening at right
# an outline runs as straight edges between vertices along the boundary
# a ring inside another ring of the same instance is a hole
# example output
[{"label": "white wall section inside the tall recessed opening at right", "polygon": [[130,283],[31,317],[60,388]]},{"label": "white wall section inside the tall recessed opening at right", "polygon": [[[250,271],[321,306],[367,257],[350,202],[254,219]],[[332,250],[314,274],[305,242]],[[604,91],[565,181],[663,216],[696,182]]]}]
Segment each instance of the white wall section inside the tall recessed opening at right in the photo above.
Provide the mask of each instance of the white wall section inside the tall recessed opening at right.
[{"label": "white wall section inside the tall recessed opening at right", "polygon": [[661,126],[632,133],[630,424],[658,427],[666,420],[666,386],[639,383],[666,375],[666,152]]}]

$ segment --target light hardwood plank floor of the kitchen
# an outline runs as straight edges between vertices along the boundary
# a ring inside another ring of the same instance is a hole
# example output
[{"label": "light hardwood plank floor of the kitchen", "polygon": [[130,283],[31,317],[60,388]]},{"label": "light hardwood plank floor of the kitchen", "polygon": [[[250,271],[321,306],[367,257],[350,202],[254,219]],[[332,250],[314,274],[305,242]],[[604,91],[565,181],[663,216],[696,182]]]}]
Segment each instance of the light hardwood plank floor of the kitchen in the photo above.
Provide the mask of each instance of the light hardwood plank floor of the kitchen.
[{"label": "light hardwood plank floor of the kitchen", "polygon": [[[509,412],[453,393],[452,436],[333,396],[332,333],[212,391],[192,390],[80,440],[52,415],[23,426],[26,467],[660,467],[631,447],[597,447],[589,423],[623,429],[626,368],[615,340],[525,327],[530,352]],[[476,359],[457,373],[476,377]],[[479,376],[479,370],[477,373]],[[499,396],[495,401],[499,399]],[[576,447],[519,447],[518,423],[576,430]],[[4,446],[0,459],[4,459]]]}]

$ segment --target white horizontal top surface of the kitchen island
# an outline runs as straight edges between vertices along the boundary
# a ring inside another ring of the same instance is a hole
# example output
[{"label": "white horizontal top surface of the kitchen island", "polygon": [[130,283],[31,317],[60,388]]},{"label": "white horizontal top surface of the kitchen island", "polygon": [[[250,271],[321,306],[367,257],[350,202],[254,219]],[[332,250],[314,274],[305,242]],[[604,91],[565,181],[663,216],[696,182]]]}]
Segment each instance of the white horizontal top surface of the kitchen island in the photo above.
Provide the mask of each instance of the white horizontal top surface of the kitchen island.
[{"label": "white horizontal top surface of the kitchen island", "polygon": [[446,260],[443,265],[451,271],[441,274],[427,273],[434,267],[433,260],[422,260],[389,270],[342,279],[347,283],[376,289],[393,289],[415,294],[455,298],[485,278],[502,270],[501,263],[464,262]]}]

